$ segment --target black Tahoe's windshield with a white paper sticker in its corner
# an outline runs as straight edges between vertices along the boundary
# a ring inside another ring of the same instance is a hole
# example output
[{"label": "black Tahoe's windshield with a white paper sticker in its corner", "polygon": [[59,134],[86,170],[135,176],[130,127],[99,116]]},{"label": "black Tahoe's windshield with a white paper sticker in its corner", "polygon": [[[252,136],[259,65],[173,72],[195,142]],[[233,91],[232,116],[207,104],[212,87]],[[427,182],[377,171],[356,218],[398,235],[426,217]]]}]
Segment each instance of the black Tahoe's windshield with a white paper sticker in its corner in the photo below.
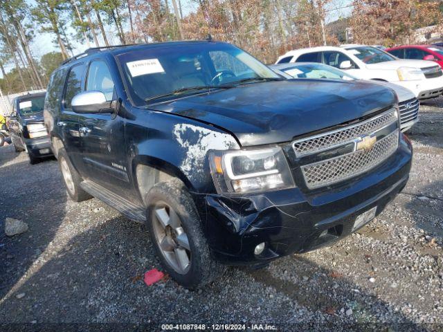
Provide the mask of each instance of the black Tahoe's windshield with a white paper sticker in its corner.
[{"label": "black Tahoe's windshield with a white paper sticker in its corner", "polygon": [[117,59],[129,93],[139,106],[201,93],[206,86],[207,91],[218,91],[218,86],[225,89],[233,84],[281,78],[243,50],[222,43],[147,46]]}]

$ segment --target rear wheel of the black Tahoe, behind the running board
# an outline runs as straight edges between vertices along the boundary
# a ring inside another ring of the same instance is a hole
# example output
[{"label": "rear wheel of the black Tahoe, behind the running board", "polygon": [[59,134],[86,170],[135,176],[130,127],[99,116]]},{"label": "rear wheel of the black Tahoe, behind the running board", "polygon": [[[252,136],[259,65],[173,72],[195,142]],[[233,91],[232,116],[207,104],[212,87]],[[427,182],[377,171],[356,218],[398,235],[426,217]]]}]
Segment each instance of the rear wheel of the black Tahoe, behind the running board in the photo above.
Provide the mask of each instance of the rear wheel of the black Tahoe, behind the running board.
[{"label": "rear wheel of the black Tahoe, behind the running board", "polygon": [[60,149],[58,151],[58,164],[60,171],[62,172],[63,183],[69,197],[71,197],[71,199],[75,202],[91,199],[92,196],[85,192],[82,187],[80,187],[82,178],[71,164],[71,160],[69,160],[69,157],[64,149]]}]

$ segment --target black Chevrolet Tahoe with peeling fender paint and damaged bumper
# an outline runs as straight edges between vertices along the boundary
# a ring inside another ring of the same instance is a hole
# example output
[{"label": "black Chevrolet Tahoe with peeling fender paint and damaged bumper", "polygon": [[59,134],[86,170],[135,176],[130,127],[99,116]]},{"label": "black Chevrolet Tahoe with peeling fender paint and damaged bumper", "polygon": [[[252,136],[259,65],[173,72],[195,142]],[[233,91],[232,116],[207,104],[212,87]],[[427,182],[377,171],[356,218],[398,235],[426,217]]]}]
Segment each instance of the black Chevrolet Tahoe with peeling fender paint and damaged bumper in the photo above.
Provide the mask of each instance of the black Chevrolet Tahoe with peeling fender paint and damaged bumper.
[{"label": "black Chevrolet Tahoe with peeling fender paint and damaged bumper", "polygon": [[412,156],[392,90],[286,80],[222,42],[89,49],[53,73],[44,118],[71,199],[146,223],[188,288],[343,239]]}]

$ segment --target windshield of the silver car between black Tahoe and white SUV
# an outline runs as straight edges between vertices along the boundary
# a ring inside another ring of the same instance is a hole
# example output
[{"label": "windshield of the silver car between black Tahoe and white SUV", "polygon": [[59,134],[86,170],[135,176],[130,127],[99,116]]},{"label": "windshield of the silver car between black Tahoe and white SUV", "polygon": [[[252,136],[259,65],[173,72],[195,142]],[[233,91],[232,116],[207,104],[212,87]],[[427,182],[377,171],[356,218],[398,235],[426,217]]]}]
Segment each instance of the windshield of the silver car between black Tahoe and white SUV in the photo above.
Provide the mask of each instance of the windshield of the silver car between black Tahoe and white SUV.
[{"label": "windshield of the silver car between black Tahoe and white SUV", "polygon": [[356,80],[356,77],[349,75],[340,69],[325,64],[300,64],[282,68],[284,73],[296,78],[329,78],[334,80]]}]

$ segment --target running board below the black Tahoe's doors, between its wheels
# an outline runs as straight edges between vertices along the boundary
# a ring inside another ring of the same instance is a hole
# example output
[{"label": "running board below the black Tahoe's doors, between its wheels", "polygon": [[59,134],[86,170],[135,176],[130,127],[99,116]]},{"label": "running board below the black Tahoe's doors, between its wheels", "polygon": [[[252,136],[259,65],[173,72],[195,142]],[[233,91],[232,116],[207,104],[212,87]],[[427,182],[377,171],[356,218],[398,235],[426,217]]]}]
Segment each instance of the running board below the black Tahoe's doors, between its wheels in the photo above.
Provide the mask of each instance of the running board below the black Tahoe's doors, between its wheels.
[{"label": "running board below the black Tahoe's doors, between its wheels", "polygon": [[114,194],[114,192],[107,190],[105,187],[102,187],[93,181],[84,180],[80,183],[80,186],[84,191],[88,192],[97,199],[100,199],[100,201],[106,203],[111,208],[118,210],[118,212],[124,216],[127,216],[127,218],[141,223],[145,222],[146,216],[143,206],[128,201],[127,199]]}]

